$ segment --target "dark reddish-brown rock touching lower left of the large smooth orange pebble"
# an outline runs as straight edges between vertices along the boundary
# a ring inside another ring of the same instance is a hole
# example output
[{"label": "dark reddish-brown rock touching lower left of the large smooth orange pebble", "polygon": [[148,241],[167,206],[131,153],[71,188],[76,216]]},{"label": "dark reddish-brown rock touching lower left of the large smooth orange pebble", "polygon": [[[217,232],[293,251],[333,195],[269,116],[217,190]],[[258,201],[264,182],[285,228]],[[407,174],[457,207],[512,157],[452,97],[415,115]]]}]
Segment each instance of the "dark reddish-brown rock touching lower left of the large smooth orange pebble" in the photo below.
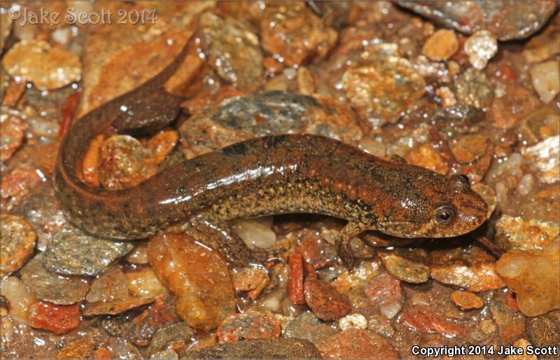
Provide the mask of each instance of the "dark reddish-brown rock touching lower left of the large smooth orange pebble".
[{"label": "dark reddish-brown rock touching lower left of the large smooth orange pebble", "polygon": [[175,311],[175,300],[171,296],[158,296],[155,303],[130,321],[123,331],[134,345],[146,346],[158,329],[181,321]]}]

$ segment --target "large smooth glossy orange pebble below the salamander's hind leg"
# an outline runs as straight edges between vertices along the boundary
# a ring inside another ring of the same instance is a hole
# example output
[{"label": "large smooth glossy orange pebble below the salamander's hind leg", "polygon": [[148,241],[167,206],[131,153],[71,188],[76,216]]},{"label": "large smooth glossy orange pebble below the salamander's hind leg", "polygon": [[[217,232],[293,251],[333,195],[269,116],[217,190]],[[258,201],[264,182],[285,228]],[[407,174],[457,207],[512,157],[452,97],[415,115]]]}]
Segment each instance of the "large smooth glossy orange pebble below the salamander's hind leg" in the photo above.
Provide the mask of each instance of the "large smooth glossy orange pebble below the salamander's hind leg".
[{"label": "large smooth glossy orange pebble below the salamander's hind leg", "polygon": [[235,312],[233,284],[222,256],[187,235],[153,237],[150,263],[167,288],[179,296],[179,317],[209,331]]}]

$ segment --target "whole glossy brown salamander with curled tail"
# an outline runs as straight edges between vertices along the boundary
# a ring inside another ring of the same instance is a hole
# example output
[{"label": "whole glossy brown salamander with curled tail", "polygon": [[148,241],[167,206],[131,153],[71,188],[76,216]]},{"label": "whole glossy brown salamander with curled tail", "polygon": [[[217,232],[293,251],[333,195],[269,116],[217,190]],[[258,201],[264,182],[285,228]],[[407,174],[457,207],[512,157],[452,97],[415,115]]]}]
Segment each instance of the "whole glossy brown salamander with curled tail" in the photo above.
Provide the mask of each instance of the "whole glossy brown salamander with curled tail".
[{"label": "whole glossy brown salamander with curled tail", "polygon": [[190,221],[210,234],[210,245],[230,262],[246,264],[253,254],[232,233],[229,220],[325,214],[348,221],[337,251],[351,266],[349,242],[364,230],[453,237],[486,219],[486,202],[470,189],[466,176],[446,177],[308,134],[242,141],[177,162],[125,190],[87,186],[78,174],[87,144],[97,134],[109,126],[121,133],[146,133],[174,120],[183,99],[165,92],[163,85],[184,60],[186,48],[155,78],[85,114],[62,140],[55,188],[69,219],[88,233],[139,239]]}]

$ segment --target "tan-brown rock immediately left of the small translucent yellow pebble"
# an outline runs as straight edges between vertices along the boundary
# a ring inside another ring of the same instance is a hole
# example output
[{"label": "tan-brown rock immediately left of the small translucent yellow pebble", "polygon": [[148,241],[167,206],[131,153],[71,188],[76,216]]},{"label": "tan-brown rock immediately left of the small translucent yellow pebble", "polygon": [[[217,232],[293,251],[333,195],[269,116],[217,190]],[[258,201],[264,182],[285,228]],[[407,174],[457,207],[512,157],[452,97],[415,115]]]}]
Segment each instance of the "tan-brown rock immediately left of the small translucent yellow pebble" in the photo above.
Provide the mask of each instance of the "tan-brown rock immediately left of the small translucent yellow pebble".
[{"label": "tan-brown rock immediately left of the small translucent yellow pebble", "polygon": [[85,300],[90,303],[97,303],[98,301],[107,303],[127,298],[130,298],[128,279],[120,266],[109,269],[103,275],[94,279],[90,285],[90,291],[85,296]]}]

